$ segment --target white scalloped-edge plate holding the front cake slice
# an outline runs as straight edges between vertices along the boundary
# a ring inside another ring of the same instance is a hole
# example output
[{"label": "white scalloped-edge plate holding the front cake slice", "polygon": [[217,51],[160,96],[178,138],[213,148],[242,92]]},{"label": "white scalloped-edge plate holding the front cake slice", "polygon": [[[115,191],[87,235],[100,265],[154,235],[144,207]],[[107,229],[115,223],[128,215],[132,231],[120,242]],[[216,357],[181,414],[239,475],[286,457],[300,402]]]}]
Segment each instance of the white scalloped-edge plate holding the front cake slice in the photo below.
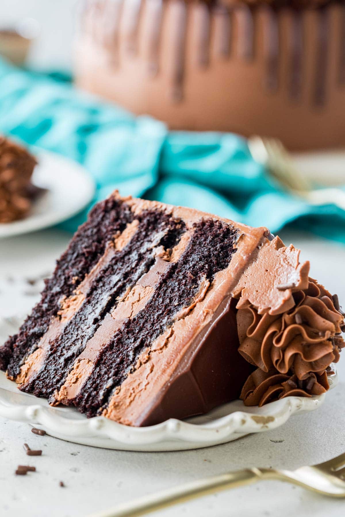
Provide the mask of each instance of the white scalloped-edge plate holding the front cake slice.
[{"label": "white scalloped-edge plate holding the front cake slice", "polygon": [[[15,321],[0,318],[0,339],[13,332]],[[331,388],[337,382],[336,373],[329,377]],[[0,416],[28,422],[68,442],[130,451],[198,449],[231,442],[249,433],[275,429],[292,415],[313,411],[323,403],[325,396],[324,393],[311,398],[287,397],[263,407],[245,407],[242,401],[236,400],[207,415],[184,421],[172,418],[151,427],[133,428],[104,417],[87,419],[76,408],[51,407],[46,399],[19,391],[17,385],[0,372]]]}]

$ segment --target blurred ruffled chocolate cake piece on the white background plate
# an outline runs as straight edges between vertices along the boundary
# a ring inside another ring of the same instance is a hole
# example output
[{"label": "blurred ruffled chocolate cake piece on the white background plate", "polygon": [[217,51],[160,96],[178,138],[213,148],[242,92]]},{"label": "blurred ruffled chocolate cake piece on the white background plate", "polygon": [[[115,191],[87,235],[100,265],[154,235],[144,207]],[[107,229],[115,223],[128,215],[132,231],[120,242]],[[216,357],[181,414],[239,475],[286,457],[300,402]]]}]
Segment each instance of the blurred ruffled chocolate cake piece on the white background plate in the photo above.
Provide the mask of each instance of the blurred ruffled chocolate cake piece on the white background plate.
[{"label": "blurred ruffled chocolate cake piece on the white background plate", "polygon": [[36,160],[0,135],[0,223],[23,219],[37,189],[31,183]]}]

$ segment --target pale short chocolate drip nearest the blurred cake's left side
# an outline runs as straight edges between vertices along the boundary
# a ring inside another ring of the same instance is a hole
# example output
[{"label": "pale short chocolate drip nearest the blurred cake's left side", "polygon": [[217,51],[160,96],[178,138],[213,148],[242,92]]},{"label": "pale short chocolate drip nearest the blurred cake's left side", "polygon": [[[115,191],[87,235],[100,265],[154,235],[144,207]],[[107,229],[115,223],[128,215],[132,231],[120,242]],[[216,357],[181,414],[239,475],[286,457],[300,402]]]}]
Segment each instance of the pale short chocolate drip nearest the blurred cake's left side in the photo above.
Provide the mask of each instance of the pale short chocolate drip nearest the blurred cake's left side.
[{"label": "pale short chocolate drip nearest the blurred cake's left side", "polygon": [[108,50],[109,64],[117,67],[119,64],[119,30],[123,0],[113,0],[107,4],[104,17],[104,47]]}]

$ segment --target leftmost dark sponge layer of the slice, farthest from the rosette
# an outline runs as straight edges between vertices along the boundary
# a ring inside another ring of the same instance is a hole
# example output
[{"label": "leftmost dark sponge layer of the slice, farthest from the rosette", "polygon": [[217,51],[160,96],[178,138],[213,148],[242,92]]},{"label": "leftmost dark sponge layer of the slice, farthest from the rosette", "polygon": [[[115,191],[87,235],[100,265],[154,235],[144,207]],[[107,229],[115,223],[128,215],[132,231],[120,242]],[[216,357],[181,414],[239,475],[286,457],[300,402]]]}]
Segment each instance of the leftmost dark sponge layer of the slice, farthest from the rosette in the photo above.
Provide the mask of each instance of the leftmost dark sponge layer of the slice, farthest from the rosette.
[{"label": "leftmost dark sponge layer of the slice, farthest from the rosette", "polygon": [[7,368],[10,378],[18,375],[21,361],[48,330],[52,318],[61,309],[61,298],[69,297],[76,290],[103,255],[108,242],[132,219],[129,208],[113,197],[93,208],[88,221],[79,228],[57,261],[53,275],[46,280],[41,301],[26,318],[20,333],[0,348],[0,366]]}]

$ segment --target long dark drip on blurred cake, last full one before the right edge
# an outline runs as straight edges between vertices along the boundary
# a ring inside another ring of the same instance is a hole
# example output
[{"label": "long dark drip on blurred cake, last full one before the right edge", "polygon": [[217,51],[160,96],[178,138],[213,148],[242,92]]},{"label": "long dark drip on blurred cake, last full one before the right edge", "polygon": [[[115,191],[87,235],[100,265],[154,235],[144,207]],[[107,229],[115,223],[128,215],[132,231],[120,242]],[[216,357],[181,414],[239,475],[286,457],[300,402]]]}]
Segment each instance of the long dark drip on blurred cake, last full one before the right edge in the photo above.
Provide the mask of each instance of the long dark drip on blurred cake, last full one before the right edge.
[{"label": "long dark drip on blurred cake, last full one before the right edge", "polygon": [[326,78],[328,68],[328,34],[329,18],[328,10],[324,7],[317,14],[317,41],[316,62],[314,73],[313,103],[317,106],[324,105],[326,101]]}]

